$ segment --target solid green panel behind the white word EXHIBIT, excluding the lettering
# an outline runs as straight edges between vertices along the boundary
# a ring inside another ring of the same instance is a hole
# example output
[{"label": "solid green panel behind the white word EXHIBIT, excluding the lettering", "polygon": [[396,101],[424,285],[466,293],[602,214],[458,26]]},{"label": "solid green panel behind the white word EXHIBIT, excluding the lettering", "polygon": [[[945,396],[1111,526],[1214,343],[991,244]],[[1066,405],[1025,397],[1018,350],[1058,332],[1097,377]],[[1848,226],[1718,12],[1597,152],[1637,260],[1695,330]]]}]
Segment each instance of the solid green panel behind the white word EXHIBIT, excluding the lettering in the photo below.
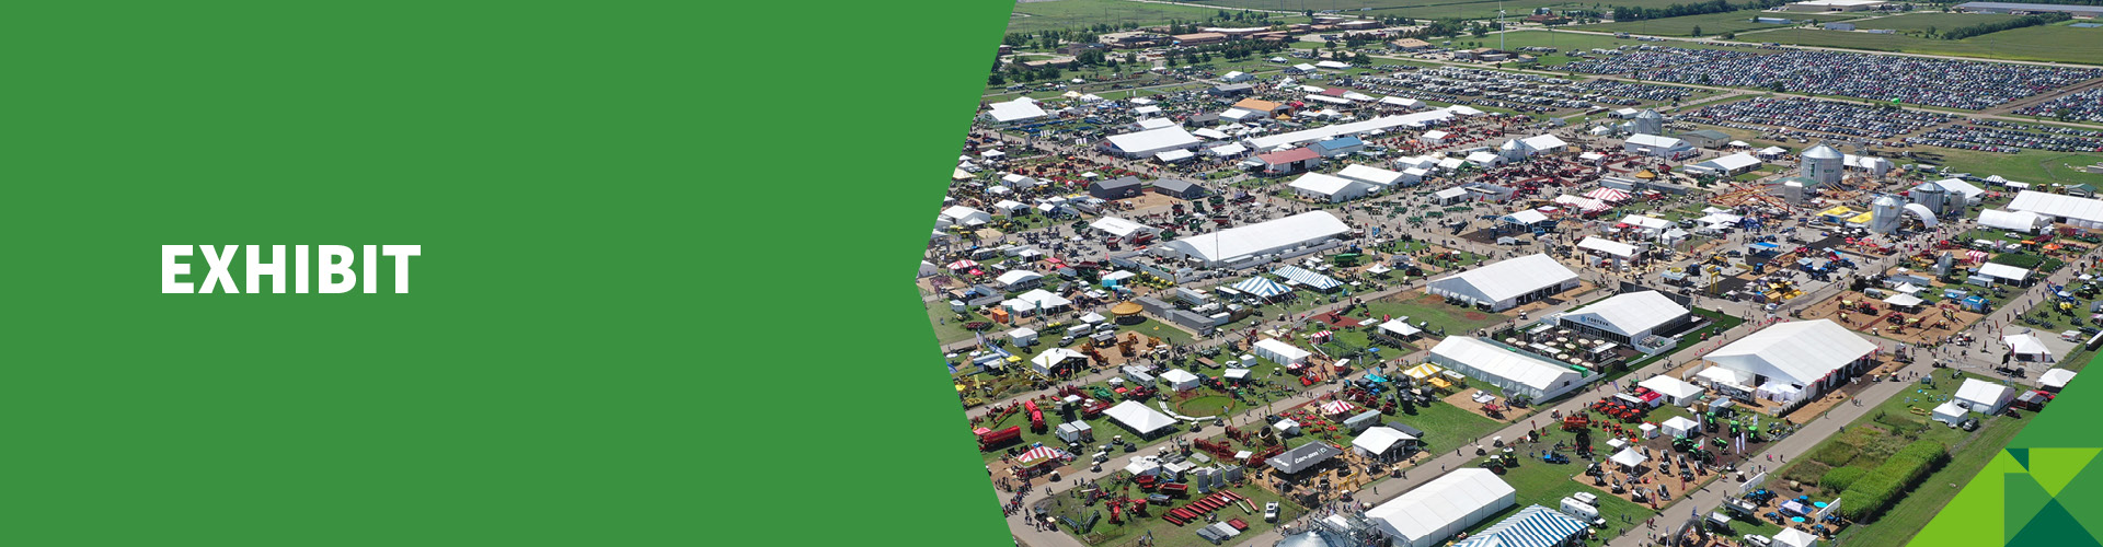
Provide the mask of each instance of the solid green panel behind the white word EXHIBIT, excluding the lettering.
[{"label": "solid green panel behind the white word EXHIBIT, excluding the lettering", "polygon": [[1009,6],[6,8],[0,543],[1007,543],[908,280]]}]

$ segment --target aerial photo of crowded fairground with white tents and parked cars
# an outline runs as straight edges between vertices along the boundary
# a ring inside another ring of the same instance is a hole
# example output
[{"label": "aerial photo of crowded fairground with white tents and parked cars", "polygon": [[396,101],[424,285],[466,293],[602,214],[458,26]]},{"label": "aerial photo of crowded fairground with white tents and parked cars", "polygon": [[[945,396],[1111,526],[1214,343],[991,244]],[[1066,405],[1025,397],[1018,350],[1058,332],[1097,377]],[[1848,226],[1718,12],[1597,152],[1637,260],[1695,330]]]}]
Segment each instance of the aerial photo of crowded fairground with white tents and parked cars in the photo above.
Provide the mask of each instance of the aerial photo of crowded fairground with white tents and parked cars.
[{"label": "aerial photo of crowded fairground with white tents and parked cars", "polygon": [[2103,345],[2103,6],[1680,2],[1018,2],[915,280],[1018,545],[1905,545]]}]

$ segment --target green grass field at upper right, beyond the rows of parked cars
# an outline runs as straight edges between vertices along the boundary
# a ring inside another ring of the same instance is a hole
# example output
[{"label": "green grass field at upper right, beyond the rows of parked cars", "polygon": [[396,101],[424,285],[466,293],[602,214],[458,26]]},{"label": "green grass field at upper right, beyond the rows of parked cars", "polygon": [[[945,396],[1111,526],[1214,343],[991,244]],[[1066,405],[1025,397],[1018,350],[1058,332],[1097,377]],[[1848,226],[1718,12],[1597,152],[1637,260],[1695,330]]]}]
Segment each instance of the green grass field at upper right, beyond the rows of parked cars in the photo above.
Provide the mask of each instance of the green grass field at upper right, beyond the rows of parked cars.
[{"label": "green grass field at upper right, beyond the rows of parked cars", "polygon": [[1777,29],[1741,36],[1748,42],[1796,46],[1867,48],[1926,55],[1958,55],[2013,61],[2057,61],[2103,65],[2103,29],[2067,25],[2021,27],[1964,40],[1931,40],[1905,34]]}]

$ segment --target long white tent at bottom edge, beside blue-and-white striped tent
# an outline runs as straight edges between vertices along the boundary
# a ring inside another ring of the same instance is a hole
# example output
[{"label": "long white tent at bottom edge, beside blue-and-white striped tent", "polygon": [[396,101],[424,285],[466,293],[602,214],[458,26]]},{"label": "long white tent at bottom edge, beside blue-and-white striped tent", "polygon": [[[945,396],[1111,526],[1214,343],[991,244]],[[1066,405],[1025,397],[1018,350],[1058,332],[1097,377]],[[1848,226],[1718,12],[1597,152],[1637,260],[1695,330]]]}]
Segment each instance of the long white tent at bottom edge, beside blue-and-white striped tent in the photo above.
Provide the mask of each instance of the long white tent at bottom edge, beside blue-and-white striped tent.
[{"label": "long white tent at bottom edge, beside blue-and-white striped tent", "polygon": [[1453,469],[1365,511],[1394,547],[1432,547],[1512,507],[1516,490],[1489,469]]}]

